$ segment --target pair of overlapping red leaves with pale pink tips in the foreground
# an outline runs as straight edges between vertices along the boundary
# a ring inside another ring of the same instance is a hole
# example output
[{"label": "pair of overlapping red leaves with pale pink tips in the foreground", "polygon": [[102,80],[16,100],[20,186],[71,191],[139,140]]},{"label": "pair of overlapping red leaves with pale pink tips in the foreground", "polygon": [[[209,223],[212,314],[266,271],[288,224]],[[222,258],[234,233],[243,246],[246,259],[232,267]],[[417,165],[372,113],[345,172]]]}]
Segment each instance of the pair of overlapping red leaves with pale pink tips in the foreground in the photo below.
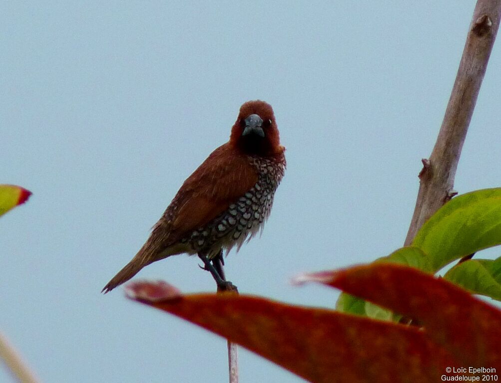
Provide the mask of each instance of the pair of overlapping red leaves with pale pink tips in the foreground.
[{"label": "pair of overlapping red leaves with pale pink tips in the foreground", "polygon": [[424,328],[329,309],[136,282],[128,296],[189,320],[315,382],[439,381],[448,366],[501,368],[501,311],[413,268],[371,264],[305,274],[412,316]]}]

